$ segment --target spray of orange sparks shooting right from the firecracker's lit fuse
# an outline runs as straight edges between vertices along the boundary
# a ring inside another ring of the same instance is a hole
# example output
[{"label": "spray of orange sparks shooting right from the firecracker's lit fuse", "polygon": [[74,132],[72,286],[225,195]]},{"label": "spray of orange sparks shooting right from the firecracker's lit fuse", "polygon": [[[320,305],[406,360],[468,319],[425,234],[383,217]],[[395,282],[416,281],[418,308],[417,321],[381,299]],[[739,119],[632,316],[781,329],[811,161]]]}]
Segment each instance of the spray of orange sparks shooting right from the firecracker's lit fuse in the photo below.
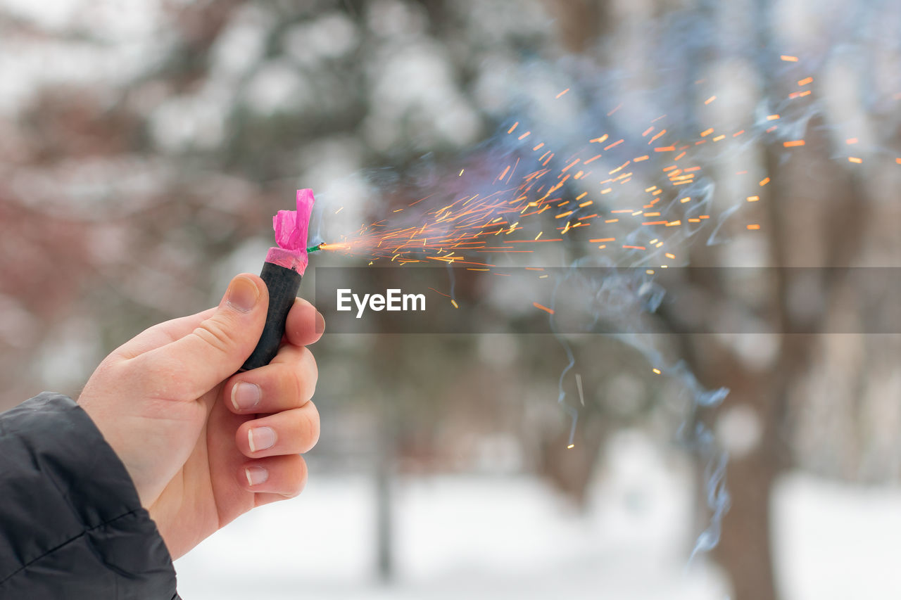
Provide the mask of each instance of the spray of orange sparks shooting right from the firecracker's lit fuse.
[{"label": "spray of orange sparks shooting right from the firecracker's lit fuse", "polygon": [[[782,59],[796,62],[787,55]],[[662,114],[649,120],[641,134],[624,137],[598,128],[586,132],[575,150],[554,150],[550,141],[536,139],[537,126],[523,132],[517,121],[505,130],[514,145],[496,173],[485,177],[478,169],[460,169],[456,178],[462,182],[455,186],[470,186],[469,191],[433,190],[394,209],[389,218],[361,224],[335,243],[310,251],[331,250],[373,264],[435,261],[491,268],[501,257],[528,258],[539,245],[571,241],[588,250],[624,253],[612,257],[617,263],[685,264],[677,256],[683,242],[728,216],[711,214],[712,178],[705,170],[711,159],[739,152],[751,139],[804,151],[805,140],[784,134],[792,128],[782,126],[787,114],[802,114],[814,101],[809,97],[814,78],[802,75],[796,76],[797,89],[780,103],[781,114],[730,129],[704,127],[681,138],[675,132],[685,128]],[[707,98],[699,112],[704,114],[715,98]],[[843,159],[862,163],[858,156]],[[749,202],[759,200],[770,183],[747,169],[735,177],[743,178]],[[761,224],[753,222],[758,213],[744,209],[744,214],[749,220],[744,229],[760,231]]]}]

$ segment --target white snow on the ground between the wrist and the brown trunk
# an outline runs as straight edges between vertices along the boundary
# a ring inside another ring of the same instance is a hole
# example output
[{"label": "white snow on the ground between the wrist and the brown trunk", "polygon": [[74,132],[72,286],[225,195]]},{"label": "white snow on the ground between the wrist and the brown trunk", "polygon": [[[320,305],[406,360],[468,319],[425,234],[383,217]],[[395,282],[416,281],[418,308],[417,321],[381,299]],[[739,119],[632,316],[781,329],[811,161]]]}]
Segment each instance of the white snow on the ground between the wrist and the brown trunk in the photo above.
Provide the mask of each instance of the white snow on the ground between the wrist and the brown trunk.
[{"label": "white snow on the ground between the wrist and the brown trunk", "polygon": [[[396,579],[375,574],[374,486],[318,475],[177,561],[186,600],[725,597],[691,549],[690,486],[641,436],[617,439],[585,514],[526,476],[400,477]],[[670,465],[672,466],[672,465]]]}]

